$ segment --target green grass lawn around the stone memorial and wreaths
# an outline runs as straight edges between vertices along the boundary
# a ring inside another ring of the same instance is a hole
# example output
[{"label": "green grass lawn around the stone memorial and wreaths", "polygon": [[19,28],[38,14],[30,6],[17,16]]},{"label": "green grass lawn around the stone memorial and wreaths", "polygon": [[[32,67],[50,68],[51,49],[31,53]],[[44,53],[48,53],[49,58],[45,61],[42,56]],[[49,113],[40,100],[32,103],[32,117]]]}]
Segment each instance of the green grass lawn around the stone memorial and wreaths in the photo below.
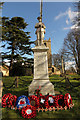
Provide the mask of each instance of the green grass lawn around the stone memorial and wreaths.
[{"label": "green grass lawn around the stone memorial and wreaths", "polygon": [[[80,84],[80,80],[76,80],[76,78],[80,78],[79,75],[69,75],[70,82],[73,85]],[[22,76],[18,80],[18,88],[15,88],[13,86],[12,88],[6,89],[3,88],[3,95],[5,93],[12,93],[16,95],[17,97],[21,95],[28,96],[28,86],[31,83],[33,77],[32,76]],[[58,120],[61,118],[61,120],[64,119],[74,119],[78,120],[80,118],[80,86],[78,87],[71,87],[69,85],[66,85],[65,80],[60,82],[63,78],[58,75],[50,76],[50,81],[54,83],[55,91],[59,91],[62,95],[65,95],[65,93],[70,93],[73,99],[74,107],[72,109],[68,110],[62,110],[62,111],[47,111],[47,112],[37,112],[36,120],[46,120],[48,119],[54,119]],[[9,87],[14,82],[15,77],[3,77],[3,83],[6,85],[6,87]],[[25,120],[20,115],[19,111],[11,110],[9,108],[2,108],[2,120]],[[34,120],[31,119],[31,120]]]}]

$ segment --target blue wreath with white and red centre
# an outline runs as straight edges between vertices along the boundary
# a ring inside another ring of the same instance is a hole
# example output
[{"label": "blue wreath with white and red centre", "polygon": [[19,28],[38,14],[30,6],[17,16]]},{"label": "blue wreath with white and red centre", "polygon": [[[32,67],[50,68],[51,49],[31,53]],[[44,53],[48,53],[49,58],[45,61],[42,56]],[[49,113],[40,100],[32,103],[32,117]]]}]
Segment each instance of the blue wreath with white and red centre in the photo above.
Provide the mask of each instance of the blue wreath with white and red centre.
[{"label": "blue wreath with white and red centre", "polygon": [[22,109],[24,106],[30,105],[28,97],[21,95],[17,98],[16,107]]}]

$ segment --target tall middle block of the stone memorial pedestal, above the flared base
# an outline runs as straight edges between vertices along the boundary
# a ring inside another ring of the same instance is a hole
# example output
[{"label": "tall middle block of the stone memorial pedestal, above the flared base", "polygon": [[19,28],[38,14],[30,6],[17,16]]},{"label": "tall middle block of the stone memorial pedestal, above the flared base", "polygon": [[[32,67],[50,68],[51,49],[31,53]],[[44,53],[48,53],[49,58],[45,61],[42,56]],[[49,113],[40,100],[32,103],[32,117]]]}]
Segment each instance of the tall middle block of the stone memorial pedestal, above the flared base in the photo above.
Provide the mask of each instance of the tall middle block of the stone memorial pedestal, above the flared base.
[{"label": "tall middle block of the stone memorial pedestal, above the flared base", "polygon": [[47,50],[41,47],[36,50],[34,48],[34,79],[48,79]]}]

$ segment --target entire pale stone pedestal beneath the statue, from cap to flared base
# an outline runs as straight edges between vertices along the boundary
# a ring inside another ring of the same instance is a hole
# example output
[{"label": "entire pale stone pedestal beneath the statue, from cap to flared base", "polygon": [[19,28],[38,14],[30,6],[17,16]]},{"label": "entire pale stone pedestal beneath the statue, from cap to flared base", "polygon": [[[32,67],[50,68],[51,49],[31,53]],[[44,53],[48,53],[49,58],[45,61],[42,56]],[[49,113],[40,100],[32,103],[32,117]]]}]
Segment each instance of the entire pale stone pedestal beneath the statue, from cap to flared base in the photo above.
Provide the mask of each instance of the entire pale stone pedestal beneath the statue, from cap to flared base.
[{"label": "entire pale stone pedestal beneath the statue, from cap to flared base", "polygon": [[29,95],[34,95],[36,89],[41,86],[41,93],[54,95],[54,86],[48,77],[48,47],[36,46],[32,48],[34,51],[34,79],[29,86]]}]

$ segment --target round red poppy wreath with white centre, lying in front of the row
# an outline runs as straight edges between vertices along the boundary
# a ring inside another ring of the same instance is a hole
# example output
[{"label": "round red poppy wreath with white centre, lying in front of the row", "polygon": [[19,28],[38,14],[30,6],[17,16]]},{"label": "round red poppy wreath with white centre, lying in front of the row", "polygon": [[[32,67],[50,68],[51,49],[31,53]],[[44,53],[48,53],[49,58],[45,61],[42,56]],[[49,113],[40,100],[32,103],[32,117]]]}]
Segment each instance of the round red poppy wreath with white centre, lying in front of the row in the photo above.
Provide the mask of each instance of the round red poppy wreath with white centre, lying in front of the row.
[{"label": "round red poppy wreath with white centre, lying in front of the row", "polygon": [[34,106],[27,105],[22,108],[21,114],[24,118],[34,118],[36,116],[36,108]]}]

